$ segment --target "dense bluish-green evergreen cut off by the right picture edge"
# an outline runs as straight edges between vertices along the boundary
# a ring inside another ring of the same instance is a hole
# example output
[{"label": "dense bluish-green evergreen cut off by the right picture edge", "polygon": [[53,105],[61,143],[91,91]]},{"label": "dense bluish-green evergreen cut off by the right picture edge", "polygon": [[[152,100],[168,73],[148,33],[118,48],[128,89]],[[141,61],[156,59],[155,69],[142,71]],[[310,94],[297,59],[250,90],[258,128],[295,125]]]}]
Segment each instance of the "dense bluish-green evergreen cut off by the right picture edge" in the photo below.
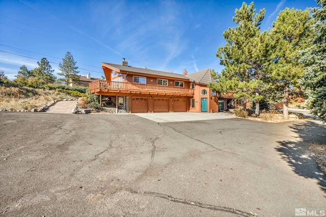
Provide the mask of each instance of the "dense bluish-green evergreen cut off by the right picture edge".
[{"label": "dense bluish-green evergreen cut off by the right picture edge", "polygon": [[318,0],[320,8],[312,8],[315,18],[311,25],[313,38],[302,50],[300,63],[305,65],[301,83],[308,96],[307,107],[323,122],[326,121],[326,1]]}]

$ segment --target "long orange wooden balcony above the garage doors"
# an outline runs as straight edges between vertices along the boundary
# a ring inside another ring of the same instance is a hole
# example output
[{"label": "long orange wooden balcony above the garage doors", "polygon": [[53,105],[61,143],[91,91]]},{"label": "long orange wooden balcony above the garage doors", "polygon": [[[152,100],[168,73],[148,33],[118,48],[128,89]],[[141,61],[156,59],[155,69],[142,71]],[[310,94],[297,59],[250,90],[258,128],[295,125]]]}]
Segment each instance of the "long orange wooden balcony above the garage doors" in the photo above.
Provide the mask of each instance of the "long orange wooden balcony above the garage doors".
[{"label": "long orange wooden balcony above the garage doors", "polygon": [[151,94],[171,96],[194,96],[194,89],[183,87],[159,86],[118,81],[97,80],[89,84],[91,94],[116,95],[122,94]]}]

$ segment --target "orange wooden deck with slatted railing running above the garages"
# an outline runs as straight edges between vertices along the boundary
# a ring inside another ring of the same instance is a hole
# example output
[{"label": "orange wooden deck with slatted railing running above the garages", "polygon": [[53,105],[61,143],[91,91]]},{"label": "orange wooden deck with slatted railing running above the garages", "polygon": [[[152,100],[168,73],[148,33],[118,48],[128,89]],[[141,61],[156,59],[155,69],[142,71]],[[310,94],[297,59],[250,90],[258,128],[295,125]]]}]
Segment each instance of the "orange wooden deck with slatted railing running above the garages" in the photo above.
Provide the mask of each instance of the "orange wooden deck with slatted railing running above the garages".
[{"label": "orange wooden deck with slatted railing running above the garages", "polygon": [[89,88],[90,92],[145,91],[150,93],[164,92],[170,94],[194,95],[194,89],[191,88],[139,84],[119,81],[97,80],[90,83]]}]

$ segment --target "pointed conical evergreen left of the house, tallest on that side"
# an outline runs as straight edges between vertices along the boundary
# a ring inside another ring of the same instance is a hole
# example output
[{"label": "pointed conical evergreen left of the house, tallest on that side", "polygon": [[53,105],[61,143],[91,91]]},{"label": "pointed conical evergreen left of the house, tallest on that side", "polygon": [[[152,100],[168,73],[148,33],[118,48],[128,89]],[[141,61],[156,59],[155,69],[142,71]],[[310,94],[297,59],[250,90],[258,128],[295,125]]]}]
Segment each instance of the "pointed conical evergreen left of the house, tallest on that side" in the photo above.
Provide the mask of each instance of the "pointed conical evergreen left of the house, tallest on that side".
[{"label": "pointed conical evergreen left of the house, tallest on that side", "polygon": [[80,80],[76,67],[76,61],[73,59],[73,56],[69,51],[67,51],[64,58],[62,58],[62,63],[59,63],[60,73],[58,75],[64,76],[60,80],[63,81],[66,85],[69,83],[77,83]]}]

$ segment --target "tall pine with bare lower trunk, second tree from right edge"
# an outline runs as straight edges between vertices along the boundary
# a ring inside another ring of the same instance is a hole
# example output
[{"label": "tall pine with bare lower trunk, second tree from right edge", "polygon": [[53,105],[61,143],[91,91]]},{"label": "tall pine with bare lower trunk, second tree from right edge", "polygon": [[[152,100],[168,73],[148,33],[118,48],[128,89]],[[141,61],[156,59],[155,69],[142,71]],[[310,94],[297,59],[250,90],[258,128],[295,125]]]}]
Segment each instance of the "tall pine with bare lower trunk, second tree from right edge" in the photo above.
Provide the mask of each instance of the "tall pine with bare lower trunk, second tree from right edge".
[{"label": "tall pine with bare lower trunk, second tree from right edge", "polygon": [[275,43],[272,77],[283,88],[283,119],[288,119],[289,94],[298,86],[303,66],[298,64],[298,50],[304,48],[309,37],[311,16],[305,11],[286,8],[273,22],[270,36]]}]

